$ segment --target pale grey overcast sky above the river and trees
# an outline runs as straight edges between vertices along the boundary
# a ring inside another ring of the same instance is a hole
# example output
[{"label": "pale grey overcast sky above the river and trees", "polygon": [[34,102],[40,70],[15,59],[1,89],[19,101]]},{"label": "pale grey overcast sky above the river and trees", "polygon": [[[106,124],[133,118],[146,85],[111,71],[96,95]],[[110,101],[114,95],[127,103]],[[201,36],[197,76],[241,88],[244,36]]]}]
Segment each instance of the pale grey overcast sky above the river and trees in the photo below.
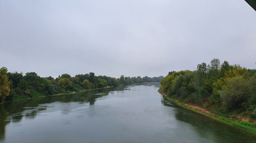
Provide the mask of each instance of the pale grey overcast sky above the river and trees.
[{"label": "pale grey overcast sky above the river and trees", "polygon": [[42,77],[160,76],[218,58],[255,68],[243,0],[0,0],[0,66]]}]

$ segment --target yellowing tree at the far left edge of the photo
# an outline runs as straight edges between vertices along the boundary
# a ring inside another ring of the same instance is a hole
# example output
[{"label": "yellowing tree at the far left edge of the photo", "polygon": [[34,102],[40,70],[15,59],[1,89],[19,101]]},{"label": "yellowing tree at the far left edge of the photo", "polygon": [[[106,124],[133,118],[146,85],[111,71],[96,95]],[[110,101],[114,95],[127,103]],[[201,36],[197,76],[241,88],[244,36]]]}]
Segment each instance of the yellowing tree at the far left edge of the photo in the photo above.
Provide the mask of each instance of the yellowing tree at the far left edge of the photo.
[{"label": "yellowing tree at the far left edge of the photo", "polygon": [[3,102],[10,94],[10,82],[7,77],[7,68],[0,69],[0,102]]}]

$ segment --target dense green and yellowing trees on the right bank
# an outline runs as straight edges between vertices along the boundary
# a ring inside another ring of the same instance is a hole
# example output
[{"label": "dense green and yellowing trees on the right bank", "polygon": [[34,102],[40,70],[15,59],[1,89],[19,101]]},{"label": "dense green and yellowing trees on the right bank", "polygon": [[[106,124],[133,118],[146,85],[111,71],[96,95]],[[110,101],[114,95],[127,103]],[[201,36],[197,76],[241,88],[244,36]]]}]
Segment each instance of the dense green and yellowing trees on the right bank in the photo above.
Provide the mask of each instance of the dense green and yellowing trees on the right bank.
[{"label": "dense green and yellowing trees on the right bank", "polygon": [[231,118],[256,119],[256,69],[212,59],[195,71],[169,72],[160,82],[169,97]]}]

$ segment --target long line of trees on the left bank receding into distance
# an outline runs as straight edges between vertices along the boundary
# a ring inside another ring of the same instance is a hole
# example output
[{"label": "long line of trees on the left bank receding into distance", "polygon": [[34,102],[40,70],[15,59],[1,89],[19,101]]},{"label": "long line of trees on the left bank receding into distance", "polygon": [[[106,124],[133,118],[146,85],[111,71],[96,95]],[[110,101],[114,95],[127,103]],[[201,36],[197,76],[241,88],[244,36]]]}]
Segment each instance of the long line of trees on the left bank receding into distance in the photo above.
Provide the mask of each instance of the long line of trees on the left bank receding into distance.
[{"label": "long line of trees on the left bank receding into distance", "polygon": [[6,67],[0,69],[0,103],[60,93],[79,92],[90,89],[117,87],[138,83],[160,82],[160,77],[124,77],[112,78],[95,76],[94,73],[80,74],[71,77],[63,74],[58,78],[42,78],[36,73],[8,73]]}]

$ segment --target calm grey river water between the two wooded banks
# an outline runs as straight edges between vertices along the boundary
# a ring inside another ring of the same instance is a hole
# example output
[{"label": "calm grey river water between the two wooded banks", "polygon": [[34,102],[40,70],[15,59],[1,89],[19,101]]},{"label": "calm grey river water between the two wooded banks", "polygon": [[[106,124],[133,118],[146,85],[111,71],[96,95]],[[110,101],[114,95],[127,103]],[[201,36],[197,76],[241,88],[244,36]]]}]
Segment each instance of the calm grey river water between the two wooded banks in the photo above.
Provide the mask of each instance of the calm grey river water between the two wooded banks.
[{"label": "calm grey river water between the two wooded banks", "polygon": [[256,142],[256,137],[176,107],[159,84],[0,105],[0,142]]}]

